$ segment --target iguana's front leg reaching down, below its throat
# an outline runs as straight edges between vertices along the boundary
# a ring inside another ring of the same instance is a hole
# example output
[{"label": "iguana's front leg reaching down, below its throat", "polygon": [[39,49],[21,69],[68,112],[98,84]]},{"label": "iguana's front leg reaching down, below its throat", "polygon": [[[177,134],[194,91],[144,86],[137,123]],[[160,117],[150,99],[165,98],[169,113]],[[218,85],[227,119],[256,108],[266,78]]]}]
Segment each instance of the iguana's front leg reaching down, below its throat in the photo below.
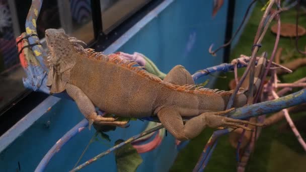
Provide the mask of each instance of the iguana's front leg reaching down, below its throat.
[{"label": "iguana's front leg reaching down, below its throat", "polygon": [[81,113],[89,121],[89,126],[93,124],[101,125],[115,125],[119,127],[124,127],[127,124],[127,121],[115,121],[115,118],[105,118],[100,115],[97,115],[95,106],[91,100],[85,95],[85,93],[75,85],[67,83],[65,86],[67,94],[77,103]]}]

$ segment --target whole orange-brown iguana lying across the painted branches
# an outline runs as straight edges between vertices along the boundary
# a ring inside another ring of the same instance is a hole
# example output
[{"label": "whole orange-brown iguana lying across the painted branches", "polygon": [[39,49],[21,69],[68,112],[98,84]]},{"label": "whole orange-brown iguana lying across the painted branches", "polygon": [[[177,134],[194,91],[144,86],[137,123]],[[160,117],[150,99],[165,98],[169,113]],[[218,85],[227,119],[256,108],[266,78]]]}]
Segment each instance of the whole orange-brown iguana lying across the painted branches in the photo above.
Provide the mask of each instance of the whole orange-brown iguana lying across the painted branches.
[{"label": "whole orange-brown iguana lying across the painted branches", "polygon": [[[119,117],[157,116],[178,140],[194,138],[205,127],[250,130],[244,125],[262,125],[220,116],[233,110],[225,110],[232,91],[198,87],[181,65],[175,66],[162,80],[117,54],[104,55],[84,49],[83,41],[69,37],[63,30],[47,29],[45,36],[50,53],[46,60],[50,92],[66,91],[90,125],[123,127],[127,123],[99,116],[95,107]],[[256,80],[258,83],[260,79]],[[246,104],[246,93],[242,91],[236,96],[234,107]],[[192,118],[184,123],[182,117]]]}]

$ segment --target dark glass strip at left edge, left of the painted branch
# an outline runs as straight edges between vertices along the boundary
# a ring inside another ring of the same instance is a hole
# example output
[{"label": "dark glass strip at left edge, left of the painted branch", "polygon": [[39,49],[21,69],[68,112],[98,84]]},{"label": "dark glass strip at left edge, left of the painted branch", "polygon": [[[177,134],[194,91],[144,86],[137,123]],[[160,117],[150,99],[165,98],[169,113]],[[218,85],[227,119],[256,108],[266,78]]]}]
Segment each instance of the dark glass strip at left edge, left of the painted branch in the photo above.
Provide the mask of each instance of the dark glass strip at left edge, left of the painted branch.
[{"label": "dark glass strip at left edge, left of the painted branch", "polygon": [[9,0],[0,0],[0,109],[24,91]]}]

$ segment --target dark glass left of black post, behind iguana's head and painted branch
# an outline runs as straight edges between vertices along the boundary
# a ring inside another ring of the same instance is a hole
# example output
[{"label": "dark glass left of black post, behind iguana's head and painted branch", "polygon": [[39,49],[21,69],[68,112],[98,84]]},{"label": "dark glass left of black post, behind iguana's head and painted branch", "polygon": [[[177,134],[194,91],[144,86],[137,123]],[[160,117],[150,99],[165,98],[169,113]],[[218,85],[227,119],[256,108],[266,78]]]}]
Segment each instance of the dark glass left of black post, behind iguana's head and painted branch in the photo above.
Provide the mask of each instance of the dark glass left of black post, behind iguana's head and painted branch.
[{"label": "dark glass left of black post, behind iguana's head and painted branch", "polygon": [[[25,32],[31,0],[0,0],[0,111],[25,88],[25,73],[19,64],[16,37]],[[37,21],[39,38],[48,28],[63,28],[86,43],[93,41],[91,0],[45,0]],[[44,40],[41,40],[44,44]]]}]

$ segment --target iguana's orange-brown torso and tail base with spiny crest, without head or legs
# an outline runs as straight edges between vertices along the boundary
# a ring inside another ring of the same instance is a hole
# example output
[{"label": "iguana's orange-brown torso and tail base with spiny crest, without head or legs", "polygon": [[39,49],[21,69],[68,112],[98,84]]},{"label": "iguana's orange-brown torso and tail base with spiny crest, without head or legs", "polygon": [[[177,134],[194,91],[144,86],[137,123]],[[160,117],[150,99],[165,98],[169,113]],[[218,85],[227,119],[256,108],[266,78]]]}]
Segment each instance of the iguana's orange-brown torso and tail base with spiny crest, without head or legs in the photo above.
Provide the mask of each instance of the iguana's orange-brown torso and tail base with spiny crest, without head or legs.
[{"label": "iguana's orange-brown torso and tail base with spiny crest, without head or legs", "polygon": [[182,116],[222,111],[232,92],[196,85],[176,85],[146,72],[116,54],[86,49],[75,55],[69,83],[80,88],[98,108],[118,116],[146,117],[165,106],[177,106]]}]

